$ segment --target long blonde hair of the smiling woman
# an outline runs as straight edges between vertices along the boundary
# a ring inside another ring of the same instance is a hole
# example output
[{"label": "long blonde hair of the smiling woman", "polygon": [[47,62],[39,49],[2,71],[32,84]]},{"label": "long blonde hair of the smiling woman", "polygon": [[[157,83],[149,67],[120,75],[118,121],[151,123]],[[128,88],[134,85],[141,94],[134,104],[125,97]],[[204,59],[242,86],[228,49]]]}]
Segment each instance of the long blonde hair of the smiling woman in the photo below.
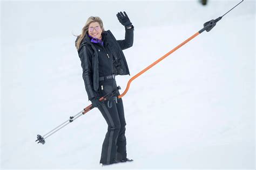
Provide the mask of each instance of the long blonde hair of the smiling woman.
[{"label": "long blonde hair of the smiling woman", "polygon": [[104,31],[102,19],[100,19],[99,17],[93,17],[93,16],[89,17],[89,18],[87,19],[87,22],[86,22],[85,26],[84,26],[83,29],[82,29],[82,34],[80,34],[79,36],[73,35],[73,36],[78,37],[78,40],[77,40],[77,42],[76,42],[76,48],[77,48],[77,50],[79,49],[82,40],[84,39],[86,33],[88,32],[89,25],[90,25],[91,23],[95,23],[95,22],[98,22],[100,28]]}]

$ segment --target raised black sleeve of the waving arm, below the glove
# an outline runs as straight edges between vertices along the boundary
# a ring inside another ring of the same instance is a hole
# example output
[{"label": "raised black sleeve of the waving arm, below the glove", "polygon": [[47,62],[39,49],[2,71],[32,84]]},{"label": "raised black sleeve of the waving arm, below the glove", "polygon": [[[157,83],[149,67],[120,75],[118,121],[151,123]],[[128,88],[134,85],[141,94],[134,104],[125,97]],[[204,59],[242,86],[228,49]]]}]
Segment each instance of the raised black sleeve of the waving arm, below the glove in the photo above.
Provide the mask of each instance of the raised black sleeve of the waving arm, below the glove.
[{"label": "raised black sleeve of the waving arm, below the glove", "polygon": [[130,48],[133,45],[133,31],[134,31],[133,25],[131,26],[131,28],[125,28],[125,39],[117,40],[122,50],[126,48]]}]

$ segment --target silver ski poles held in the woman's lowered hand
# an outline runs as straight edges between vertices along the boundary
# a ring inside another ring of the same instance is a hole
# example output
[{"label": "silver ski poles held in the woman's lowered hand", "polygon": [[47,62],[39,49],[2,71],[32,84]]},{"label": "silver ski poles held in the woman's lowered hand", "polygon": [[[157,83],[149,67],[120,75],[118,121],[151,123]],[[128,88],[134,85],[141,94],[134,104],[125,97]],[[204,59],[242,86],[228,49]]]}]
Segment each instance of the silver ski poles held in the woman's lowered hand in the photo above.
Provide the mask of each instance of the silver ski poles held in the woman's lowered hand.
[{"label": "silver ski poles held in the woman's lowered hand", "polygon": [[[120,86],[118,86],[117,89],[113,90],[112,92],[104,95],[103,97],[100,97],[99,101],[103,102],[103,101],[108,100],[110,97],[116,95],[116,92],[119,89],[121,89]],[[37,140],[36,141],[38,141],[38,143],[45,144],[45,139],[46,138],[51,136],[53,133],[56,133],[60,129],[64,128],[66,125],[70,124],[71,122],[75,121],[75,119],[77,119],[78,117],[80,117],[82,115],[85,115],[88,111],[92,110],[93,108],[95,108],[95,107],[92,104],[90,104],[89,106],[84,108],[82,111],[79,111],[78,114],[76,114],[75,116],[70,116],[67,121],[65,121],[64,123],[60,124],[55,129],[52,129],[48,133],[44,134],[44,136],[41,136],[40,134],[37,134]]]}]

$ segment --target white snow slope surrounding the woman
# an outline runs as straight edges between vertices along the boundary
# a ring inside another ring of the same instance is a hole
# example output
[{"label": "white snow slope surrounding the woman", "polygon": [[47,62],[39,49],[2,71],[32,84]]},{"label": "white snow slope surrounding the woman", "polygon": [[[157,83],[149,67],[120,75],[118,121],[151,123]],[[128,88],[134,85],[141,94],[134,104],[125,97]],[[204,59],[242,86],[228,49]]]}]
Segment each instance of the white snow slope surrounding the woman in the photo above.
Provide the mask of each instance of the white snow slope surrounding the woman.
[{"label": "white snow slope surrounding the woman", "polygon": [[107,124],[98,109],[35,142],[91,104],[75,48],[87,18],[134,44],[132,76],[240,1],[1,1],[1,168],[255,168],[255,1],[244,1],[131,83],[123,97],[127,157],[99,165]]}]

